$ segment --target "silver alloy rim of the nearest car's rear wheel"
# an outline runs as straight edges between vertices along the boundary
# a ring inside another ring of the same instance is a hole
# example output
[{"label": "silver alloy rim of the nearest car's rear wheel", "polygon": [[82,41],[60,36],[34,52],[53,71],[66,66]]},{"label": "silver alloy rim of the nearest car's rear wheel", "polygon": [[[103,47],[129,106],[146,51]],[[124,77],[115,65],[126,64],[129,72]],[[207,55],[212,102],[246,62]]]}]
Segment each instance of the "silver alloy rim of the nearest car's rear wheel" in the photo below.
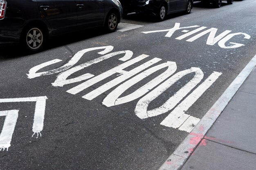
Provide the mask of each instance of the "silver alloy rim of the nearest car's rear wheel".
[{"label": "silver alloy rim of the nearest car's rear wheel", "polygon": [[31,28],[27,33],[27,45],[32,50],[38,49],[43,44],[43,33],[38,28]]}]

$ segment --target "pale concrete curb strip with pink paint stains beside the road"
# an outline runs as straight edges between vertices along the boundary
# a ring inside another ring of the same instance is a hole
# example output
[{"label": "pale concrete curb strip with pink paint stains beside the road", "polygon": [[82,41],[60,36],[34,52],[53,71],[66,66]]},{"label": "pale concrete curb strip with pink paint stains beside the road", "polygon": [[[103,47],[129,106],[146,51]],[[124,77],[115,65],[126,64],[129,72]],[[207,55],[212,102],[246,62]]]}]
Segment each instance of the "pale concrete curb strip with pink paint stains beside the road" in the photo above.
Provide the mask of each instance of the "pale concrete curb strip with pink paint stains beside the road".
[{"label": "pale concrete curb strip with pink paint stains beside the road", "polygon": [[176,148],[173,154],[168,157],[159,170],[177,170],[182,167],[189,158],[196,146],[201,142],[204,135],[216,121],[220,113],[225,109],[231,98],[236,94],[239,87],[243,84],[247,76],[256,66],[256,55],[245,66],[235,80],[229,85],[226,91],[220,96],[215,104],[204,115],[195,128],[186,136],[183,142]]}]

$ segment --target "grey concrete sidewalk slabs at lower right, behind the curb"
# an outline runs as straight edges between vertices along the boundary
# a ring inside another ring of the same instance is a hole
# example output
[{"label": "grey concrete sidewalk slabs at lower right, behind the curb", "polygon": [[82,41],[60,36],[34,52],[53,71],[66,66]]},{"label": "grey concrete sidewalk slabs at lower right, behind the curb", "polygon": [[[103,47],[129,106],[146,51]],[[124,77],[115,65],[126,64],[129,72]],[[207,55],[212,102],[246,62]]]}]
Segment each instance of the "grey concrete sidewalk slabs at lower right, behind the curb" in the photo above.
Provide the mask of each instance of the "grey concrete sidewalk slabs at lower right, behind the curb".
[{"label": "grey concrete sidewalk slabs at lower right, behind the curb", "polygon": [[256,68],[182,170],[256,170]]}]

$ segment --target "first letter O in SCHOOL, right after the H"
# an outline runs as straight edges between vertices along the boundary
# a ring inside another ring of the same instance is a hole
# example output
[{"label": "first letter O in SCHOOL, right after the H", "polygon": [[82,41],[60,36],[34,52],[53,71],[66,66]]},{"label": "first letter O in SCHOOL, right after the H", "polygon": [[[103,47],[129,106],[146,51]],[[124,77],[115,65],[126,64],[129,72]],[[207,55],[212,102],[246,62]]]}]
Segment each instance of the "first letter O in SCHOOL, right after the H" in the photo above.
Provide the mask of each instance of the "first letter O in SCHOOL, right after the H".
[{"label": "first letter O in SCHOOL, right after the H", "polygon": [[[147,76],[149,76],[149,75],[153,74],[154,72],[156,72],[162,68],[165,68],[165,67],[168,67],[167,70],[165,72],[163,72],[162,74],[160,74],[159,76],[157,76],[156,78],[154,78],[152,81],[146,83],[144,86],[140,87],[135,92],[133,92],[127,96],[118,98],[128,88],[132,87],[132,85],[135,85],[136,83],[143,80]],[[171,62],[171,61],[167,61],[166,63],[156,65],[155,67],[150,68],[150,69],[138,74],[137,76],[131,78],[130,80],[126,81],[125,83],[119,85],[116,89],[114,89],[112,92],[110,92],[110,94],[108,94],[108,96],[106,96],[106,98],[103,100],[102,104],[106,105],[107,107],[110,107],[110,106],[120,105],[120,104],[123,104],[126,102],[130,102],[132,100],[135,100],[135,99],[143,96],[144,94],[149,92],[151,89],[153,89],[155,86],[157,86],[159,83],[161,83],[166,78],[171,76],[176,71],[176,69],[177,69],[176,63]]]}]

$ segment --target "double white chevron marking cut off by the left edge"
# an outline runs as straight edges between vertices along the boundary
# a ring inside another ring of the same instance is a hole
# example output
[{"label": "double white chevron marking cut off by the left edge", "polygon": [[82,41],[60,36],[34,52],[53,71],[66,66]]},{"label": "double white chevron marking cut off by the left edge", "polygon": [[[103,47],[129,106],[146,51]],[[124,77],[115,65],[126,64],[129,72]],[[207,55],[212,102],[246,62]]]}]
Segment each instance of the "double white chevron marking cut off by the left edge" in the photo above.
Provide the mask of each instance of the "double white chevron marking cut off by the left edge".
[{"label": "double white chevron marking cut off by the left edge", "polygon": [[[28,98],[0,98],[0,103],[5,102],[36,102],[34,113],[34,123],[32,131],[40,134],[43,131],[43,122],[45,117],[46,96],[28,97]],[[0,134],[0,148],[9,148],[14,127],[18,118],[18,110],[0,111],[0,116],[6,116],[3,130]],[[34,136],[32,135],[32,137]],[[36,137],[36,138],[37,138]],[[2,150],[2,149],[1,149]]]}]

